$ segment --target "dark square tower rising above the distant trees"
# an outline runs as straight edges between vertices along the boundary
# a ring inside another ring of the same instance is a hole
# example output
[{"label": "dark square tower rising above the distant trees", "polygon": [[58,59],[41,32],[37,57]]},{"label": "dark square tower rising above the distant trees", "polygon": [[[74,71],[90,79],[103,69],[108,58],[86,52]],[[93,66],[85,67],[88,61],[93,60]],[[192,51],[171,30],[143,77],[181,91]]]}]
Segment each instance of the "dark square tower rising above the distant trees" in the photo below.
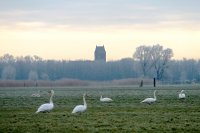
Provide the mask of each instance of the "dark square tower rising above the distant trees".
[{"label": "dark square tower rising above the distant trees", "polygon": [[95,61],[106,61],[106,50],[103,46],[96,46],[94,52],[94,60]]}]

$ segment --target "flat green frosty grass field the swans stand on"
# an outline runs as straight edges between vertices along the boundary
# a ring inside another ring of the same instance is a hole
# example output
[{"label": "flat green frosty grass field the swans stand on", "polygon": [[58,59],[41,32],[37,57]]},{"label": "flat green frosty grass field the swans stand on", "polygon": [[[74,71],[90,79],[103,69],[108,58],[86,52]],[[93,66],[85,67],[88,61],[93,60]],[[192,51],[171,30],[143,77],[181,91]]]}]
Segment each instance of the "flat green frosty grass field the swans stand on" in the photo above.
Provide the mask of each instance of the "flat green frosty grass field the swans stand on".
[{"label": "flat green frosty grass field the swans stand on", "polygon": [[[66,87],[53,88],[55,108],[50,113],[35,114],[37,108],[49,102],[47,91],[52,88],[0,88],[0,132],[2,133],[74,133],[74,132],[200,132],[200,86],[153,87]],[[153,97],[155,104],[142,104]],[[185,90],[186,99],[177,98]],[[40,90],[41,97],[31,97]],[[88,96],[87,111],[71,114],[82,104],[82,94]],[[112,98],[101,103],[99,94]]]}]

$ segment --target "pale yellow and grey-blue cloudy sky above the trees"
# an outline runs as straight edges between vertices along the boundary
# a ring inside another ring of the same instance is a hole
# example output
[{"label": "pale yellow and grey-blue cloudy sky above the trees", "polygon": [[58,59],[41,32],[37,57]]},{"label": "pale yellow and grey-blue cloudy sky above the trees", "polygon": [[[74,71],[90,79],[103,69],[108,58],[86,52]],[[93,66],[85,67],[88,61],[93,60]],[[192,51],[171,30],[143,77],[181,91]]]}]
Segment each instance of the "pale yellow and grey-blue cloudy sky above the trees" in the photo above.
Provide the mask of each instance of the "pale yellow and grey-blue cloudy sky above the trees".
[{"label": "pale yellow and grey-blue cloudy sky above the trees", "polygon": [[0,56],[132,57],[140,45],[200,59],[200,0],[0,0]]}]

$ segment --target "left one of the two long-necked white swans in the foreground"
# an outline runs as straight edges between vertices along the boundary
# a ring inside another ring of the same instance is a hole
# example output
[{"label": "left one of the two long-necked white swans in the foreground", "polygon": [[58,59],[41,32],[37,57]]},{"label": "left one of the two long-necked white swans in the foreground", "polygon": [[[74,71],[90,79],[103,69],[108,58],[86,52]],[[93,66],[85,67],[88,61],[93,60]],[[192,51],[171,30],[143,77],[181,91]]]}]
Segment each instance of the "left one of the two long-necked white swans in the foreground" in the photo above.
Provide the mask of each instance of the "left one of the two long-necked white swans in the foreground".
[{"label": "left one of the two long-necked white swans in the foreground", "polygon": [[50,95],[51,96],[50,96],[49,103],[42,104],[35,113],[50,111],[54,108],[54,104],[53,104],[53,100],[52,100],[53,95],[54,95],[53,90],[50,91]]}]

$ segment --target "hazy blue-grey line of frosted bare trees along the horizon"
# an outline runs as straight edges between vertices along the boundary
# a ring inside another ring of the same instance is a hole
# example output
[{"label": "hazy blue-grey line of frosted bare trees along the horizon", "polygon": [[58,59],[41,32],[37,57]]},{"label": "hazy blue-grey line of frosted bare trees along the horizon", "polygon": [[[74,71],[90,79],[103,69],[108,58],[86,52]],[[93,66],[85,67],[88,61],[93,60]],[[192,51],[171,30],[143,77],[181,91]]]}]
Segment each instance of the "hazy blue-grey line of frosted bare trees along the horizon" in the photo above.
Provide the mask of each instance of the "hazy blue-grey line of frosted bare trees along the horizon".
[{"label": "hazy blue-grey line of frosted bare trees along the horizon", "polygon": [[79,79],[109,81],[156,78],[170,83],[200,82],[200,60],[172,60],[172,49],[141,45],[133,58],[116,61],[44,60],[39,56],[0,57],[1,80]]}]

